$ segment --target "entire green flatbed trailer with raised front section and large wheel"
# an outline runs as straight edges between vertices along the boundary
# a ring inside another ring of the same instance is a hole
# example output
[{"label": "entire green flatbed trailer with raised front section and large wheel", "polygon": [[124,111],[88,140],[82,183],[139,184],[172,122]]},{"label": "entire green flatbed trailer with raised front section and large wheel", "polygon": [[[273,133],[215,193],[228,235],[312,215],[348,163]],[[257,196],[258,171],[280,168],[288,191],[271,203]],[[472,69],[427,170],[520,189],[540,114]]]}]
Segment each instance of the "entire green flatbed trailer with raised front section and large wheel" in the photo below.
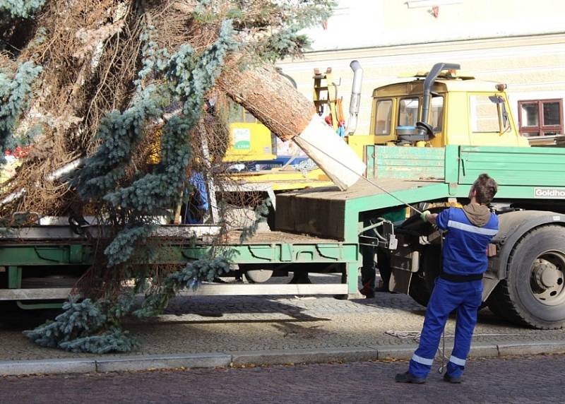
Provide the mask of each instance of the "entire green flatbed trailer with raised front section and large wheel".
[{"label": "entire green flatbed trailer with raised front section and large wheel", "polygon": [[[393,223],[391,217],[398,218],[405,208],[399,199],[445,208],[464,200],[477,176],[487,172],[499,184],[494,208],[501,228],[489,248],[484,301],[511,321],[539,328],[564,325],[565,150],[369,145],[365,156],[370,182],[360,179],[347,191],[326,187],[279,194],[275,231],[260,232],[244,244],[237,237],[228,242],[236,251],[233,263],[239,271],[336,272],[343,274],[343,283],[230,283],[203,285],[196,293],[352,296],[362,266],[359,246],[367,245],[388,257],[391,287],[426,304],[439,269],[439,238],[417,220]],[[169,229],[173,236],[167,236],[164,261],[198,259],[210,248],[206,237],[189,245],[189,227]],[[35,237],[0,237],[0,300],[28,308],[66,297],[70,285],[61,287],[57,274],[79,275],[93,256],[85,237],[69,234],[68,228],[61,229],[65,237],[49,233],[49,226],[32,230],[37,231]],[[43,278],[44,285],[37,278]],[[49,287],[50,282],[55,287]]]}]

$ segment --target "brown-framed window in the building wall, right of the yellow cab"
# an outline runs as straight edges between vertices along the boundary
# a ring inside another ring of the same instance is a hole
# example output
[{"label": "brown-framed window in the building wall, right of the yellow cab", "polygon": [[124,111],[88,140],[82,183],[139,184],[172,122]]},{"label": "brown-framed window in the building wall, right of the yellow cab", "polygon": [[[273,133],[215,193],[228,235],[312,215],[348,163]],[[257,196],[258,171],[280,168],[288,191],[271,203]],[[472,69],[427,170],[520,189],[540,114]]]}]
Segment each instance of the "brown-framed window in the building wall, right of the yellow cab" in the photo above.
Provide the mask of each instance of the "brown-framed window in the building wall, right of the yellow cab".
[{"label": "brown-framed window in the building wall, right of the yellow cab", "polygon": [[518,124],[523,136],[563,134],[563,99],[518,101]]}]

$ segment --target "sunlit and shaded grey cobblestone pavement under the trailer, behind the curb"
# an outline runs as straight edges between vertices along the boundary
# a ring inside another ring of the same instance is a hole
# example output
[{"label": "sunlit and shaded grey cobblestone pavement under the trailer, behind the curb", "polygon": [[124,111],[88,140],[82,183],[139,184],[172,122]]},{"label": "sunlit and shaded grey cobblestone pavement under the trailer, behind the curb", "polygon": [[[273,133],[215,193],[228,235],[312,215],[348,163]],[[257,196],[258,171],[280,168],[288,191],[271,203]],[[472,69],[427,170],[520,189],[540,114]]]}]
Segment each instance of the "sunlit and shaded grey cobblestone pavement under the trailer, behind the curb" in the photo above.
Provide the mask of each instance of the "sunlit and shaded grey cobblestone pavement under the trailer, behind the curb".
[{"label": "sunlit and shaded grey cobblestone pavement under the trailer, behind the curb", "polygon": [[[319,280],[314,277],[314,282]],[[374,299],[333,297],[177,297],[157,319],[132,319],[126,328],[141,339],[130,355],[374,347],[415,343],[387,331],[420,331],[424,307],[406,295],[377,293]],[[0,320],[1,322],[1,320]],[[455,321],[446,328],[447,340]],[[32,323],[0,323],[0,360],[92,357],[38,347],[21,333]],[[475,342],[565,340],[565,330],[521,328],[480,311]],[[112,355],[108,355],[112,356]]]}]

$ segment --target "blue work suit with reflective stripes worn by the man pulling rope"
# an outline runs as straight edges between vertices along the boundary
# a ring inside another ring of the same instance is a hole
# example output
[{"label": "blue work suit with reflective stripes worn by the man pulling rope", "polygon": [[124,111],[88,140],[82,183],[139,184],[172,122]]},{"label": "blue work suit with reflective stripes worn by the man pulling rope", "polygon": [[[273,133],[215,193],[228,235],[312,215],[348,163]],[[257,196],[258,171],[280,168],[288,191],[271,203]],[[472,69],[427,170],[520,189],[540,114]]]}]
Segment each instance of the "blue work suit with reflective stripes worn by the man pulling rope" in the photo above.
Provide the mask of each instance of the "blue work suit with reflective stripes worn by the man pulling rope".
[{"label": "blue work suit with reflective stripes worn by the man pulling rope", "polygon": [[[482,275],[487,270],[487,246],[498,231],[499,221],[491,213],[484,227],[472,225],[460,208],[448,208],[436,218],[437,227],[448,230],[443,251],[443,272],[448,275]],[[447,275],[447,277],[448,277]],[[463,374],[471,347],[472,332],[477,323],[477,310],[482,302],[482,280],[458,281],[437,278],[426,310],[420,346],[414,352],[408,372],[425,379],[439,346],[451,311],[457,310],[455,345],[447,364],[447,374]]]}]

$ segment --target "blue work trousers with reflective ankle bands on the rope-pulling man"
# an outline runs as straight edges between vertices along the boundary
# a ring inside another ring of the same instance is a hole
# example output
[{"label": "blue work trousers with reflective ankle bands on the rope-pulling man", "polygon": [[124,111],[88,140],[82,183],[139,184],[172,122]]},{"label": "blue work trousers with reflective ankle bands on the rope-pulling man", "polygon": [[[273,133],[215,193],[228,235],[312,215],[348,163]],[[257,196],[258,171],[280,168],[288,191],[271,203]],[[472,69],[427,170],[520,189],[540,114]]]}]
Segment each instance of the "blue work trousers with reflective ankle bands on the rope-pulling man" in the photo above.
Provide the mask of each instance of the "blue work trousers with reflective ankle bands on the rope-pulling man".
[{"label": "blue work trousers with reflective ankle bands on the rope-pulling man", "polygon": [[447,364],[447,374],[463,374],[471,347],[472,331],[477,323],[477,310],[482,302],[482,280],[451,282],[438,278],[426,309],[420,346],[410,360],[408,371],[416,377],[427,376],[432,369],[441,333],[451,311],[457,310],[455,344]]}]

